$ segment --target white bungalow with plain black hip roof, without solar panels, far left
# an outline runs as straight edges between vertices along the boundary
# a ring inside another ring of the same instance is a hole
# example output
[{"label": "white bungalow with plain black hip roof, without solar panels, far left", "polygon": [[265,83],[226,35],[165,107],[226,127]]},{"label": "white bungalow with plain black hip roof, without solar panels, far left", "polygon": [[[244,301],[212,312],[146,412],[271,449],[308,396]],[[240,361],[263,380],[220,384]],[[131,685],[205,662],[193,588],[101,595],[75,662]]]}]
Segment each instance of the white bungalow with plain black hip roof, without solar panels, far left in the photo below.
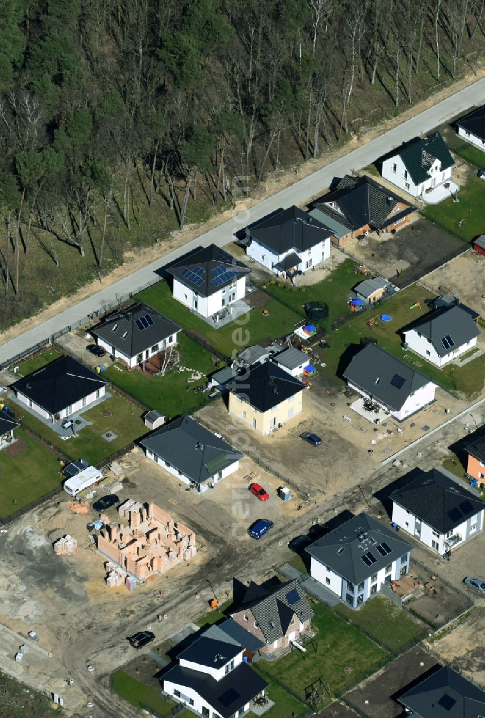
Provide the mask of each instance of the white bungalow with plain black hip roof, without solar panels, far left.
[{"label": "white bungalow with plain black hip roof, without solar panels, far left", "polygon": [[106,393],[106,381],[70,356],[24,376],[10,388],[17,401],[54,423],[83,411]]}]

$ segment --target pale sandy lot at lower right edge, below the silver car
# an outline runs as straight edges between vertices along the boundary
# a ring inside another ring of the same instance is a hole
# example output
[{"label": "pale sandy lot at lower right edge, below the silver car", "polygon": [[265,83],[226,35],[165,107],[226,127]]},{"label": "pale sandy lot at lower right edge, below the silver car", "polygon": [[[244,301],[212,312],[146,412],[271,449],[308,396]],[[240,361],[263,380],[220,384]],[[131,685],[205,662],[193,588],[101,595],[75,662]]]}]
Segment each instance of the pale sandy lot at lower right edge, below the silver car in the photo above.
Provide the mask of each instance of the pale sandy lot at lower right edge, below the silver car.
[{"label": "pale sandy lot at lower right edge, below the silver car", "polygon": [[482,686],[485,686],[484,628],[485,607],[477,607],[463,623],[432,645],[438,656]]}]

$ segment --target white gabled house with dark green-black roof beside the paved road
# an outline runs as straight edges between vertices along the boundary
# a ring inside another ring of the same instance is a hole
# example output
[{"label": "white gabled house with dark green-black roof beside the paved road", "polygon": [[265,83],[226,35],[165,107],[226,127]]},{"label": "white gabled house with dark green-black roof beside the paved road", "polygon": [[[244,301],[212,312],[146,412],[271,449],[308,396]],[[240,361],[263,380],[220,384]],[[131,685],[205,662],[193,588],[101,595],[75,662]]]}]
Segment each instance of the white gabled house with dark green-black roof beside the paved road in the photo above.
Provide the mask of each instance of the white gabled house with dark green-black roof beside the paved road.
[{"label": "white gabled house with dark green-black roof beside the paved road", "polygon": [[443,137],[434,132],[429,137],[415,137],[387,154],[382,177],[412,197],[424,198],[426,190],[451,181],[454,164]]}]

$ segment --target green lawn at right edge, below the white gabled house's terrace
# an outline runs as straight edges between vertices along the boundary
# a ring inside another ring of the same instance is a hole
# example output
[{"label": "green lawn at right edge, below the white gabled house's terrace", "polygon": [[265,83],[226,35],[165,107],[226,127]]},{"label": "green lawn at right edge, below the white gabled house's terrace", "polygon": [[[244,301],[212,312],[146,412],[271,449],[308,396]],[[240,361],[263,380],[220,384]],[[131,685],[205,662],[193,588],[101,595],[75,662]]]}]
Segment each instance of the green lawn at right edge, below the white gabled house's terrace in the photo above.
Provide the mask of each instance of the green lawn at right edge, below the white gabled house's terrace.
[{"label": "green lawn at right edge, below the white gabled house's terrace", "polygon": [[[473,148],[472,148],[473,149]],[[477,150],[479,151],[479,150]],[[485,153],[484,154],[485,157]],[[485,164],[485,162],[484,162]],[[459,202],[444,200],[438,205],[426,205],[425,218],[440,225],[463,242],[469,243],[485,226],[485,182],[478,177],[468,177],[466,184],[458,192]],[[458,222],[465,220],[458,226]]]}]

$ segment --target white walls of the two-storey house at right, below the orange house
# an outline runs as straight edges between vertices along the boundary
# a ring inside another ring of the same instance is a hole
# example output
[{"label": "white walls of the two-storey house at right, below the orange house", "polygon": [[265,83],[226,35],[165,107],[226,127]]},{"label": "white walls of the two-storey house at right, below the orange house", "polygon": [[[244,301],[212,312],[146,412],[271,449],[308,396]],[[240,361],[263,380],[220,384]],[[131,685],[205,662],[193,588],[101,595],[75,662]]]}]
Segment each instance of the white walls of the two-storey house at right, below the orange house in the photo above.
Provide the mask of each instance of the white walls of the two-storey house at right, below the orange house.
[{"label": "white walls of the two-storey house at right, below the orange house", "polygon": [[[463,544],[463,541],[467,541],[468,538],[476,536],[484,528],[484,511],[481,510],[476,513],[475,516],[471,516],[466,521],[463,521],[459,526],[453,528],[453,531],[448,533],[439,533],[434,528],[421,521],[420,518],[414,516],[410,511],[403,508],[399,503],[393,501],[392,503],[392,521],[397,523],[399,528],[406,533],[410,533],[411,536],[421,541],[422,544],[428,546],[428,548],[438,551],[438,554],[443,556],[446,551],[457,548]],[[453,543],[453,546],[446,545],[447,539],[451,539],[453,536],[460,536],[461,540]]]}]

